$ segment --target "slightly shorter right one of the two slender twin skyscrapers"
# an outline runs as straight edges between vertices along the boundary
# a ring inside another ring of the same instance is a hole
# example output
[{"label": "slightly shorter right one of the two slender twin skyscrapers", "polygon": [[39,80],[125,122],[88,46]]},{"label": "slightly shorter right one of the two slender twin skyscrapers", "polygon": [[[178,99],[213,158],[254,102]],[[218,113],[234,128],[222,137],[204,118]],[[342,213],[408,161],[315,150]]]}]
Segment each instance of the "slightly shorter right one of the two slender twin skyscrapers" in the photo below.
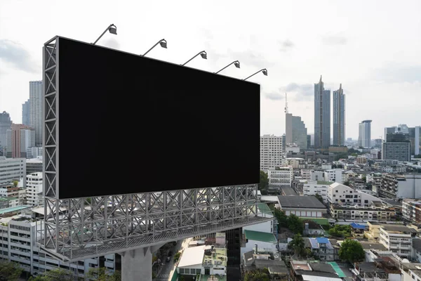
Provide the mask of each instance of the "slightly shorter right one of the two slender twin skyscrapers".
[{"label": "slightly shorter right one of the two slender twin skyscrapers", "polygon": [[333,91],[333,145],[345,145],[345,95],[342,84]]}]

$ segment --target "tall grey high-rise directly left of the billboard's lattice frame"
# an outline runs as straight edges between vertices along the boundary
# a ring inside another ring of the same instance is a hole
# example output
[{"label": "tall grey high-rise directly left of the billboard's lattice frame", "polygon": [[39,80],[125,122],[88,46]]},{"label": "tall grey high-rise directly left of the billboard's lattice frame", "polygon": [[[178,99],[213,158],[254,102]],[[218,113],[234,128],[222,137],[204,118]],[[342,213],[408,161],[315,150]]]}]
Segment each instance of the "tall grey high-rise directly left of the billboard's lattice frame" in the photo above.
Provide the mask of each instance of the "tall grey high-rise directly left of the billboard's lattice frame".
[{"label": "tall grey high-rise directly left of the billboard's lattice frame", "polygon": [[42,81],[29,81],[29,126],[35,129],[35,145],[42,145]]}]

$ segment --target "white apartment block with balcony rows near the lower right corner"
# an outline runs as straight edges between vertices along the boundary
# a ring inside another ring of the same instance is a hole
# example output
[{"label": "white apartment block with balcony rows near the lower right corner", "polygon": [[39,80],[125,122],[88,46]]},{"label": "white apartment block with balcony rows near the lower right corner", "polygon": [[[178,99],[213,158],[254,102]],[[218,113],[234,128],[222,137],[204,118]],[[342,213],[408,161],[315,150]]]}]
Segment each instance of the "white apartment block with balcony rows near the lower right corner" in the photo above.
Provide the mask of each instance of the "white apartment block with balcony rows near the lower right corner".
[{"label": "white apartment block with balcony rows near the lower right corner", "polygon": [[417,230],[399,225],[382,225],[380,227],[379,242],[397,256],[410,259],[412,239]]}]

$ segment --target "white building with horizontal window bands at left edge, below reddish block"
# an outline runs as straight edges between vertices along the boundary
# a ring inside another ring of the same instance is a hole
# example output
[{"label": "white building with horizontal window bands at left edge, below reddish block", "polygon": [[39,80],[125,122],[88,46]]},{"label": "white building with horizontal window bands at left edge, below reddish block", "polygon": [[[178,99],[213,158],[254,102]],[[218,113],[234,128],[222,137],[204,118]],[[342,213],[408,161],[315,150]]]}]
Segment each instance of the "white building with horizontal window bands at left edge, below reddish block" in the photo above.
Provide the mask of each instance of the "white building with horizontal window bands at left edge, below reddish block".
[{"label": "white building with horizontal window bands at left edge, below reddish block", "polygon": [[26,187],[26,159],[0,156],[0,185],[23,180]]}]

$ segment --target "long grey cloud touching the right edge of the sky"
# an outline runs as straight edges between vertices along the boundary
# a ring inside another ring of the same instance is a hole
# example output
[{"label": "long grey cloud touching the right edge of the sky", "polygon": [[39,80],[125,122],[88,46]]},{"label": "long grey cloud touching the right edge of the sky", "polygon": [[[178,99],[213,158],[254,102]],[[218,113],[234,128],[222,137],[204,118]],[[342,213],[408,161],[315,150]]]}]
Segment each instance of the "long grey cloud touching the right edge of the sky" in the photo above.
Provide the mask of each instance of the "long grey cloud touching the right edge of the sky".
[{"label": "long grey cloud touching the right edge of the sky", "polygon": [[373,72],[373,78],[385,82],[408,82],[421,81],[421,65],[403,65],[396,62],[387,63]]}]

